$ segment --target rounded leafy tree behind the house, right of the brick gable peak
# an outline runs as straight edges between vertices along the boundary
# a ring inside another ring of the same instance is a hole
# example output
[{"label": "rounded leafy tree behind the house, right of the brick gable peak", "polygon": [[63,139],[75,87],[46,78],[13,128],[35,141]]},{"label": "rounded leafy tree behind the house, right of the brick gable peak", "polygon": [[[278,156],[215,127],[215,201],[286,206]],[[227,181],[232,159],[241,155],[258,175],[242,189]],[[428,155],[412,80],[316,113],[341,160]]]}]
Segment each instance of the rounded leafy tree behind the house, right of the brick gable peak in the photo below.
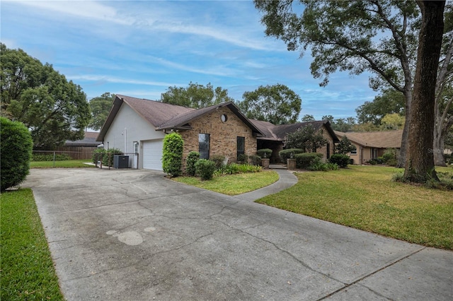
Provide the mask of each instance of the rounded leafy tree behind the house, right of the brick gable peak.
[{"label": "rounded leafy tree behind the house, right of the brick gable peak", "polygon": [[245,92],[237,105],[248,118],[273,124],[297,122],[302,100],[286,85],[260,85],[256,90]]}]

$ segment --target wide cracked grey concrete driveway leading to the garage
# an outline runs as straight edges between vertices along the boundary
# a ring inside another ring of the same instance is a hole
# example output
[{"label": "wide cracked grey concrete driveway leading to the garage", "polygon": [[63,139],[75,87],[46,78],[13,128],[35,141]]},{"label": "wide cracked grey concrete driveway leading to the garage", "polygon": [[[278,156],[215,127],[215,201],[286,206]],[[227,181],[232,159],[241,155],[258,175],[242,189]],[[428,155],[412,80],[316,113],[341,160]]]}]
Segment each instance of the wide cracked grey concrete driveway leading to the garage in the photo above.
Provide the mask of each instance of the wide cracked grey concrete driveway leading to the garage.
[{"label": "wide cracked grey concrete driveway leading to the garage", "polygon": [[67,300],[453,300],[453,252],[149,170],[31,170]]}]

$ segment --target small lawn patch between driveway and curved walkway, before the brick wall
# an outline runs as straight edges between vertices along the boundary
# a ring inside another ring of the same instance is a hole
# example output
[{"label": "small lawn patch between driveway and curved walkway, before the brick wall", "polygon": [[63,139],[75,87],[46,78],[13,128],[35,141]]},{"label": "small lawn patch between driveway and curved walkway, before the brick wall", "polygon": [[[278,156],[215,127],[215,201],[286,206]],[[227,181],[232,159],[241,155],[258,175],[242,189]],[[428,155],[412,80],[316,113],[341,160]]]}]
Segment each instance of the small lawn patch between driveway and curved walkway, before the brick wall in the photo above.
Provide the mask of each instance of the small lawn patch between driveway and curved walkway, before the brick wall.
[{"label": "small lawn patch between driveway and curved walkway, before the brick wall", "polygon": [[221,194],[235,196],[236,194],[243,194],[273,184],[278,178],[277,172],[265,170],[262,172],[224,175],[222,177],[214,177],[209,181],[202,181],[199,177],[176,177],[173,180]]}]

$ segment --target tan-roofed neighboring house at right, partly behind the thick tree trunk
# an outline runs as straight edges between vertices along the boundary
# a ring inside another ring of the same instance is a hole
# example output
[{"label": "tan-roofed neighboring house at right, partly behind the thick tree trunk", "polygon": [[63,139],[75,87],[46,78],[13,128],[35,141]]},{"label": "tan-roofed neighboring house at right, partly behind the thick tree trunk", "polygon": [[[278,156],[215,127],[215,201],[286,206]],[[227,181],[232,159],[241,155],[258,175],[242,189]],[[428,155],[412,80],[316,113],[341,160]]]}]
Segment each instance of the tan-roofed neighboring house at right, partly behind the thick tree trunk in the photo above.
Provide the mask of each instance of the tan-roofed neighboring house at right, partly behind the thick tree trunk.
[{"label": "tan-roofed neighboring house at right, partly behind the thick tree trunk", "polygon": [[335,131],[338,138],[348,137],[355,151],[350,153],[352,164],[365,164],[371,159],[381,157],[387,148],[401,148],[403,130],[396,131],[364,131],[347,132]]}]

